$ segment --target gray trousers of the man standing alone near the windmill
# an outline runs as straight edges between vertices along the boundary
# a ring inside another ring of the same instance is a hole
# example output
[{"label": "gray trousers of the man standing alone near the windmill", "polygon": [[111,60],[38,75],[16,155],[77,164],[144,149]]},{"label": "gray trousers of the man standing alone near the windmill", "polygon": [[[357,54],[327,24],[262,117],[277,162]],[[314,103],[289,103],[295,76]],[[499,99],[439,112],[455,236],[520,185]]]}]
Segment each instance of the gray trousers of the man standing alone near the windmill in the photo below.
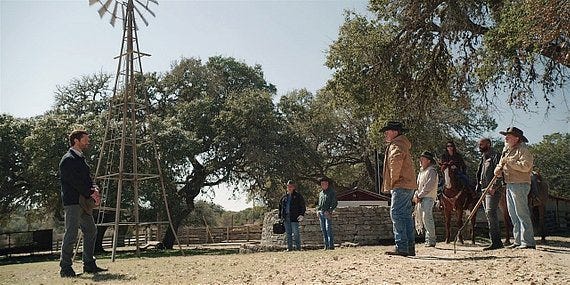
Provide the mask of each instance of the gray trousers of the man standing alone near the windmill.
[{"label": "gray trousers of the man standing alone near the windmill", "polygon": [[95,240],[97,227],[92,215],[88,215],[79,205],[63,206],[65,212],[65,234],[61,245],[61,268],[70,268],[72,265],[73,249],[77,243],[78,230],[83,232],[83,265],[95,265]]}]

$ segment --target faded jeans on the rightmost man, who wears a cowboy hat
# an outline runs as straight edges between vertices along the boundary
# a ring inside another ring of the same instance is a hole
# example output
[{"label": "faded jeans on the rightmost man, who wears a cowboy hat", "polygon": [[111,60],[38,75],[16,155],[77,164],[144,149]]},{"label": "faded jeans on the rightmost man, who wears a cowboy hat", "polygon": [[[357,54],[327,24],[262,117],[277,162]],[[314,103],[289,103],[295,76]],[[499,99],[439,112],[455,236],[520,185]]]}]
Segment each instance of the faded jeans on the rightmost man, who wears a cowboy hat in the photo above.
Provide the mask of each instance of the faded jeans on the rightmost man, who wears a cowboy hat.
[{"label": "faded jeans on the rightmost man, who wears a cowboy hat", "polygon": [[535,246],[534,230],[528,208],[530,184],[507,183],[507,208],[513,222],[515,244]]}]

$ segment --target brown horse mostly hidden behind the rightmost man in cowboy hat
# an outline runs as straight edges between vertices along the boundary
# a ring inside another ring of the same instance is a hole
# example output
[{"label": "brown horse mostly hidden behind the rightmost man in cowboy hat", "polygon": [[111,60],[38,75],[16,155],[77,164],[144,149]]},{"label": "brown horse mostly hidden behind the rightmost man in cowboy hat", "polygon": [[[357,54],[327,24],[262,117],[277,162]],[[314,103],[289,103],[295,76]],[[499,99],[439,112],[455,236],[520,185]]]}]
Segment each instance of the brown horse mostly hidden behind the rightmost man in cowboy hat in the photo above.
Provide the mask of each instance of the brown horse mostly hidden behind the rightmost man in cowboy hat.
[{"label": "brown horse mostly hidden behind the rightmost man in cowboy hat", "polygon": [[[538,228],[540,232],[540,241],[542,243],[546,242],[546,229],[545,225],[545,212],[546,203],[548,202],[548,182],[540,175],[538,172],[532,172],[531,174],[531,191],[528,193],[528,208],[532,217],[533,226]],[[506,229],[506,239],[503,243],[504,245],[511,244],[510,237],[513,232],[513,223],[508,213],[507,208],[507,191],[502,191],[501,200],[499,201],[499,208],[503,212],[503,219],[505,221]]]}]

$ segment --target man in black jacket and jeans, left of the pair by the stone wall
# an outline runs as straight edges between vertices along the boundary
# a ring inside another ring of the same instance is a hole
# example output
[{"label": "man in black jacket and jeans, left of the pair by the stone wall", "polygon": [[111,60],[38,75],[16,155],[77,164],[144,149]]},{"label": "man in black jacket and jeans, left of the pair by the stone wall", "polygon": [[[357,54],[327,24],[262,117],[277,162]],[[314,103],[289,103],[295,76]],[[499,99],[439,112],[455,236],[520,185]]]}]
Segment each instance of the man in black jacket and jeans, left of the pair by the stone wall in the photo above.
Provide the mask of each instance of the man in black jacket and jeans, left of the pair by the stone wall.
[{"label": "man in black jacket and jeans, left of the pair by the stone wall", "polygon": [[301,250],[301,235],[299,234],[299,222],[303,221],[306,206],[305,199],[297,192],[295,182],[287,182],[287,194],[281,198],[279,203],[279,219],[283,220],[285,233],[287,234],[287,251]]}]

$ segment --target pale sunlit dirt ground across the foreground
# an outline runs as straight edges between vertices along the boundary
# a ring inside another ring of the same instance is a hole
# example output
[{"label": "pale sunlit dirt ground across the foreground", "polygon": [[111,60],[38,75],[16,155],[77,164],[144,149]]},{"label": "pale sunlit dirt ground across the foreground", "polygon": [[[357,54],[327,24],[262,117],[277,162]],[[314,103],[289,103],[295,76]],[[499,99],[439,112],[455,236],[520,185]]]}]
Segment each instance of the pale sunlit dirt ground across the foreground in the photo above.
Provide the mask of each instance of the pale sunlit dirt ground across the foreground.
[{"label": "pale sunlit dirt ground across the foreground", "polygon": [[[536,250],[418,244],[415,257],[384,255],[392,246],[334,251],[258,252],[98,260],[98,275],[59,277],[57,261],[0,266],[0,284],[570,284],[570,238]],[[81,271],[81,262],[74,265]]]}]

